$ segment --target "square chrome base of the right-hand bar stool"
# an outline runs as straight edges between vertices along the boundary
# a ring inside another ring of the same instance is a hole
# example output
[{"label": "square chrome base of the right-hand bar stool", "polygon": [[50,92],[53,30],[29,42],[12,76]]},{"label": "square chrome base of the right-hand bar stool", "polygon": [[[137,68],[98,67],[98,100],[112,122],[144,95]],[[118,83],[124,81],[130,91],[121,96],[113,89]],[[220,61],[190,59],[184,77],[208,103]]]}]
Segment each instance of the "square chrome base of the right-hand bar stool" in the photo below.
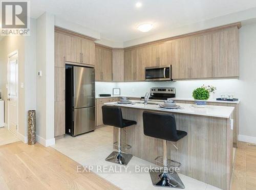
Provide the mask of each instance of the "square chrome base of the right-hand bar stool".
[{"label": "square chrome base of the right-hand bar stool", "polygon": [[173,173],[164,173],[159,170],[150,170],[150,177],[154,186],[157,187],[172,187],[172,188],[185,188],[178,174],[173,171]]}]

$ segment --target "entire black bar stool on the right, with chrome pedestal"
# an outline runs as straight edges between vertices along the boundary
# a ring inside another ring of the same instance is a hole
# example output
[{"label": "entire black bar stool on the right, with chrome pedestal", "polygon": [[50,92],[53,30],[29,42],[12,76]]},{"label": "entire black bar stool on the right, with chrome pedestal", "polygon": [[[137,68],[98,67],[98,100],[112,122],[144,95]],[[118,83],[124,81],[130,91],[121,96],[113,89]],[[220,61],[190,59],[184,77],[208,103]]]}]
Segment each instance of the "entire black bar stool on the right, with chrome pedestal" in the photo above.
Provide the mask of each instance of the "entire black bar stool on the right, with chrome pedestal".
[{"label": "entire black bar stool on the right, with chrome pedestal", "polygon": [[[156,113],[156,112],[143,112],[143,127],[144,134],[155,138],[163,139],[163,162],[158,161],[158,156],[155,160],[163,163],[163,171],[156,172],[155,170],[150,171],[151,180],[154,186],[174,187],[174,188],[185,188],[178,174],[173,171],[168,171],[168,166],[180,167],[181,163],[167,159],[167,146],[166,140],[178,141],[187,135],[185,131],[179,131],[176,128],[175,116],[170,113]],[[174,144],[173,144],[174,145]],[[175,145],[174,145],[175,146]],[[178,149],[175,146],[176,149]],[[172,161],[177,166],[167,164],[167,161]]]}]

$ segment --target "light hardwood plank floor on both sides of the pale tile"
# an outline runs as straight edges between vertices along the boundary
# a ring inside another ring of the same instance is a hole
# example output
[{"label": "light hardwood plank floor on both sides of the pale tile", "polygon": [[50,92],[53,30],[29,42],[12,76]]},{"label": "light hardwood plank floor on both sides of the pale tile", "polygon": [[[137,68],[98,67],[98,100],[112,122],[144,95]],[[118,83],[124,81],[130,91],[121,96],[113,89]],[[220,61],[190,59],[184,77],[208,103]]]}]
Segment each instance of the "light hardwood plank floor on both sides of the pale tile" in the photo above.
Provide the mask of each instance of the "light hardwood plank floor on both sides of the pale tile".
[{"label": "light hardwood plank floor on both sides of the pale tile", "polygon": [[[39,144],[28,146],[19,141],[0,146],[0,189],[118,189],[94,173],[77,173],[77,165]],[[231,190],[254,190],[255,186],[256,147],[239,142]]]}]

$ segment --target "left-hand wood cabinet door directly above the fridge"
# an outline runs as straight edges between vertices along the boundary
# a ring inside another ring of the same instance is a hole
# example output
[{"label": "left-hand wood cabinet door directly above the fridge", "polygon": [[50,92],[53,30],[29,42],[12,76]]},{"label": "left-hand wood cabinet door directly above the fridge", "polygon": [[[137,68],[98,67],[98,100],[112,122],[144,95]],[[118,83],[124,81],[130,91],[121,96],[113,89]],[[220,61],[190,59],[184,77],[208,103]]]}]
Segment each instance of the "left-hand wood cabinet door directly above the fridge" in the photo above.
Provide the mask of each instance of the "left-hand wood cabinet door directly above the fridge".
[{"label": "left-hand wood cabinet door directly above the fridge", "polygon": [[74,36],[65,36],[66,61],[81,63],[81,39]]}]

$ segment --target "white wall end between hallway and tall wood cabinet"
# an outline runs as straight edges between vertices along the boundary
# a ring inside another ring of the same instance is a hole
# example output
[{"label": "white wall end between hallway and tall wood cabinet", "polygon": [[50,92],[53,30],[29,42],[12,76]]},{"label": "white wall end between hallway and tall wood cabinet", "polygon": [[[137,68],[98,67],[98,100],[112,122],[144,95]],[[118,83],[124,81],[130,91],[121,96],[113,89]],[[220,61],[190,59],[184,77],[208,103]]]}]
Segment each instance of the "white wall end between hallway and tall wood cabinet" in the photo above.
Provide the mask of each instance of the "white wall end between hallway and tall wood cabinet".
[{"label": "white wall end between hallway and tall wood cabinet", "polygon": [[54,15],[44,13],[37,18],[36,79],[37,140],[44,146],[54,139]]}]

